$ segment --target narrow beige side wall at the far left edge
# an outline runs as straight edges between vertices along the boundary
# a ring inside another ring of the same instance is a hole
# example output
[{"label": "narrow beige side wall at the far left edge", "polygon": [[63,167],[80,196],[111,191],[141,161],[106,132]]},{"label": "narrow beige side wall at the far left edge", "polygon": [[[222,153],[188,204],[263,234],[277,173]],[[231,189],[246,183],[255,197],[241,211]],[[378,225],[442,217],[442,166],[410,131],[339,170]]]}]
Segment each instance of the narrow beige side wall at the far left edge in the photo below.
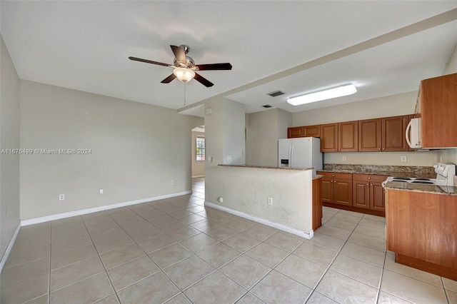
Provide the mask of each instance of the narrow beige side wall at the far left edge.
[{"label": "narrow beige side wall at the far left edge", "polygon": [[[19,148],[19,77],[0,36],[0,150]],[[19,225],[19,154],[0,155],[0,258]],[[1,270],[1,269],[0,269]]]}]

